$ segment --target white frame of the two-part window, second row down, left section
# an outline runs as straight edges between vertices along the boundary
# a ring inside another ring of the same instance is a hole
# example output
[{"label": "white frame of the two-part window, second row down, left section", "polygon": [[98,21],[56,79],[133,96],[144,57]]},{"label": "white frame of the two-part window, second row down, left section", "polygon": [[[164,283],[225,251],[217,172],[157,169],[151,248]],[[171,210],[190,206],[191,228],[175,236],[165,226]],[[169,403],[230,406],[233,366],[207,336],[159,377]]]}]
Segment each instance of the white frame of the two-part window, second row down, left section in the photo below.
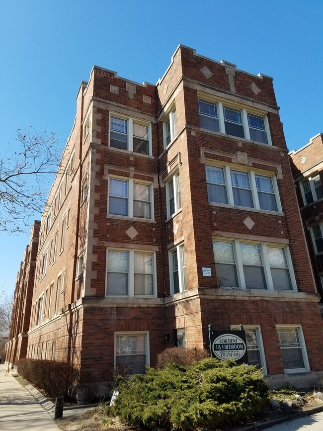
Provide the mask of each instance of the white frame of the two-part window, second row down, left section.
[{"label": "white frame of the two-part window, second row down, left section", "polygon": [[[116,179],[120,181],[126,181],[128,183],[128,197],[127,197],[127,204],[128,204],[128,215],[119,215],[119,214],[110,214],[109,212],[109,201],[110,201],[110,180]],[[143,217],[134,217],[134,184],[144,184],[149,185],[150,190],[150,212],[151,212],[151,218],[143,218]],[[108,216],[109,217],[122,217],[122,218],[132,218],[136,220],[155,220],[155,212],[154,212],[154,184],[150,181],[141,181],[139,179],[133,179],[133,178],[127,178],[123,176],[112,176],[109,175],[108,179]]]}]

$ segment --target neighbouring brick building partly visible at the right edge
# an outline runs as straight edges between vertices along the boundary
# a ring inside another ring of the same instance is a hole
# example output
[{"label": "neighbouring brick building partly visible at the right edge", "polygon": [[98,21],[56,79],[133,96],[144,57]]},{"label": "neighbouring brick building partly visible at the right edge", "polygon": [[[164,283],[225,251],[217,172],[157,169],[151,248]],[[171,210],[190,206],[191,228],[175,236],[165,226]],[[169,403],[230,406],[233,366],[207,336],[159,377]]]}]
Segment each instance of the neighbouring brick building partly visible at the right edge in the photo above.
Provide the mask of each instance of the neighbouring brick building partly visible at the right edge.
[{"label": "neighbouring brick building partly visible at the right edge", "polygon": [[323,300],[323,134],[313,136],[289,155],[316,285]]}]

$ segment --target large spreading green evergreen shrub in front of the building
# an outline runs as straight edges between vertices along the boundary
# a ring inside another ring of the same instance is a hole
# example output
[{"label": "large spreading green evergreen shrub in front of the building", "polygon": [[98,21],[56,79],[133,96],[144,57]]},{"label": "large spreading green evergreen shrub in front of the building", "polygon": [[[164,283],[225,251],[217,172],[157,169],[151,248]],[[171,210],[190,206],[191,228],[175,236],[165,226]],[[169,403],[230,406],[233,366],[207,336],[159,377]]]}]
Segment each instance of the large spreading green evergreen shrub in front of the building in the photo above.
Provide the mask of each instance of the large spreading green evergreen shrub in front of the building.
[{"label": "large spreading green evergreen shrub in front of the building", "polygon": [[119,382],[110,413],[129,425],[209,430],[247,421],[268,403],[262,373],[234,361],[203,359],[192,365],[147,368]]}]

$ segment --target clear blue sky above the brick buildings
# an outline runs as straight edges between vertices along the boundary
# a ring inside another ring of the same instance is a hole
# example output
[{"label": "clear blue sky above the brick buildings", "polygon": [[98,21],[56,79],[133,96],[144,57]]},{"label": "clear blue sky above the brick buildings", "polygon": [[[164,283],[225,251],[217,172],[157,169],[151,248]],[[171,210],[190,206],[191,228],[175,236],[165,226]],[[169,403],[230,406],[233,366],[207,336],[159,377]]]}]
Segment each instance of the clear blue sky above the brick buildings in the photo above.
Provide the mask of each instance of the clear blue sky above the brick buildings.
[{"label": "clear blue sky above the brick buildings", "polygon": [[[17,128],[64,143],[92,66],[156,83],[181,43],[274,78],[287,147],[323,132],[323,1],[0,0],[0,149]],[[39,216],[35,215],[35,218]],[[29,235],[0,233],[0,292]]]}]

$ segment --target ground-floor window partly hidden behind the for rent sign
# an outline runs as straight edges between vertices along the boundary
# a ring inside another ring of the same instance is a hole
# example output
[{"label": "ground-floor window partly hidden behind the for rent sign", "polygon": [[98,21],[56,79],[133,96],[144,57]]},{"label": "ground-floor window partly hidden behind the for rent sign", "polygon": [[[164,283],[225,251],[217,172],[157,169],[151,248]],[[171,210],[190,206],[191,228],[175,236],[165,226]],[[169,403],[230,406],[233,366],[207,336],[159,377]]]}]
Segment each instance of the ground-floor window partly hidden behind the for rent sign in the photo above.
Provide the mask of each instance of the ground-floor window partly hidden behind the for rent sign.
[{"label": "ground-floor window partly hidden behind the for rent sign", "polygon": [[[231,326],[231,329],[238,331],[239,326]],[[244,326],[245,341],[247,345],[248,363],[257,368],[262,368],[267,375],[266,359],[262,343],[261,330],[259,326]]]}]

